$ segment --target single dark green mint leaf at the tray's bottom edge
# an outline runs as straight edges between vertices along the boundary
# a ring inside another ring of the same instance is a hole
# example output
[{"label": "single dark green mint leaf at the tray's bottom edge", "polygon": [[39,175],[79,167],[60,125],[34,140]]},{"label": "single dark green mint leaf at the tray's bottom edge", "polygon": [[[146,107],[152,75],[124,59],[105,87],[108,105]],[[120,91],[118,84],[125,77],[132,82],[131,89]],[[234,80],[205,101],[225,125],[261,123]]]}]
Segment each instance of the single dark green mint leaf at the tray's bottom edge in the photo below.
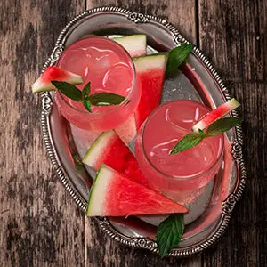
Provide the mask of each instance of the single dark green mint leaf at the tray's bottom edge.
[{"label": "single dark green mint leaf at the tray's bottom edge", "polygon": [[158,225],[156,242],[159,254],[164,257],[182,239],[184,230],[183,214],[170,214]]}]

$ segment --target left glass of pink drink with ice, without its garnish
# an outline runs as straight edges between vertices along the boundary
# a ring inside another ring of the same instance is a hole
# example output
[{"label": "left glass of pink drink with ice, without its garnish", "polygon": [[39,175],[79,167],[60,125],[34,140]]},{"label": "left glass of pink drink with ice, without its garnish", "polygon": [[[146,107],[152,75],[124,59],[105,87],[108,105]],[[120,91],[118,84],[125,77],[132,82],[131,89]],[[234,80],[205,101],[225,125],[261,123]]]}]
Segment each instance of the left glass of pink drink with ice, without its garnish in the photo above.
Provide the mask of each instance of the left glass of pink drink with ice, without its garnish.
[{"label": "left glass of pink drink with ice, without its garnish", "polygon": [[91,93],[109,92],[125,96],[119,105],[92,106],[92,113],[81,102],[57,91],[55,101],[61,114],[78,128],[106,131],[123,124],[136,109],[140,88],[136,83],[134,62],[125,49],[104,37],[86,37],[71,44],[61,55],[57,67],[84,78],[82,90],[91,82]]}]

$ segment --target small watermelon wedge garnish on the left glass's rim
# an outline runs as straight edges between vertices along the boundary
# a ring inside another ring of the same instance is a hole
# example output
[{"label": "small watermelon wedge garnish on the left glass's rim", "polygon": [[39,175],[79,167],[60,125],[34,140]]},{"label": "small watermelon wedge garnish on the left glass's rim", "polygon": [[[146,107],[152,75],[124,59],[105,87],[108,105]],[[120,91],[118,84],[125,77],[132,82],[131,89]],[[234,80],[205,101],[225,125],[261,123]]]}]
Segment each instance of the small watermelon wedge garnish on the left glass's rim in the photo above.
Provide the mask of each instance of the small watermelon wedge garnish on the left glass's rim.
[{"label": "small watermelon wedge garnish on the left glass's rim", "polygon": [[31,85],[32,92],[40,93],[44,91],[56,90],[56,88],[51,84],[51,81],[67,82],[72,85],[79,85],[84,82],[83,77],[77,74],[51,66],[45,69],[41,77],[39,77],[36,82]]}]

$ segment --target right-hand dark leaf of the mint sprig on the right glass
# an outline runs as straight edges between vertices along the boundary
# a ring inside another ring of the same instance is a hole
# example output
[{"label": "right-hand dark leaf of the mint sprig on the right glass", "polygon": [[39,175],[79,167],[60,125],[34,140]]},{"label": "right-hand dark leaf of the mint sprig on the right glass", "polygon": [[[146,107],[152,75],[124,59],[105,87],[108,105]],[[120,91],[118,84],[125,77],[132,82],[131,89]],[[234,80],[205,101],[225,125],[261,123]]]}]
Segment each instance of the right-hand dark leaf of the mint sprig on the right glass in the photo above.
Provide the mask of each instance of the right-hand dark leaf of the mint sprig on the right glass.
[{"label": "right-hand dark leaf of the mint sprig on the right glass", "polygon": [[242,123],[242,118],[240,117],[224,117],[216,120],[212,125],[209,125],[206,130],[207,136],[215,136],[223,134],[224,132],[230,130],[236,125]]}]

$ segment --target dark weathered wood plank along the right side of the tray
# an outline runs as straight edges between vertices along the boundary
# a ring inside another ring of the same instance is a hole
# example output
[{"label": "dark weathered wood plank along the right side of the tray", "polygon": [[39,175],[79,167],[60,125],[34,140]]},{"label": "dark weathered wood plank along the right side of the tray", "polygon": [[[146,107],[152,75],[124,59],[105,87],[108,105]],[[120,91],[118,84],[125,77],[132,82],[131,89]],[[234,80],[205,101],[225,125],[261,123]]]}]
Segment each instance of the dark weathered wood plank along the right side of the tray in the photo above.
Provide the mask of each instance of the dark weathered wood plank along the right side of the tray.
[{"label": "dark weathered wood plank along the right side of the tray", "polygon": [[266,266],[266,1],[199,1],[200,47],[242,103],[247,189],[204,266]]}]

